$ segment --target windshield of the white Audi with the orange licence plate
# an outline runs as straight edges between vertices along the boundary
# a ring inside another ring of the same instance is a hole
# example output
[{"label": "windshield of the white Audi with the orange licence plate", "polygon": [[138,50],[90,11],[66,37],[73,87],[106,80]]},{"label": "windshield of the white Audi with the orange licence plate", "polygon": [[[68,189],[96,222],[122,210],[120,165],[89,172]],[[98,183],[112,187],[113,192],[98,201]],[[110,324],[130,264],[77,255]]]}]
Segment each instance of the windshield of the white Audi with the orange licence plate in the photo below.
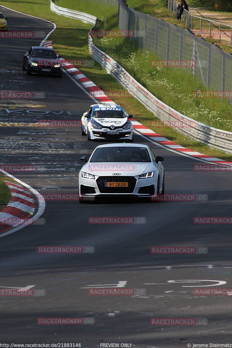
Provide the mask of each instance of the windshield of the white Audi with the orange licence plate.
[{"label": "windshield of the white Audi with the orange licence plate", "polygon": [[96,149],[89,162],[151,162],[151,158],[146,148],[119,146]]}]

